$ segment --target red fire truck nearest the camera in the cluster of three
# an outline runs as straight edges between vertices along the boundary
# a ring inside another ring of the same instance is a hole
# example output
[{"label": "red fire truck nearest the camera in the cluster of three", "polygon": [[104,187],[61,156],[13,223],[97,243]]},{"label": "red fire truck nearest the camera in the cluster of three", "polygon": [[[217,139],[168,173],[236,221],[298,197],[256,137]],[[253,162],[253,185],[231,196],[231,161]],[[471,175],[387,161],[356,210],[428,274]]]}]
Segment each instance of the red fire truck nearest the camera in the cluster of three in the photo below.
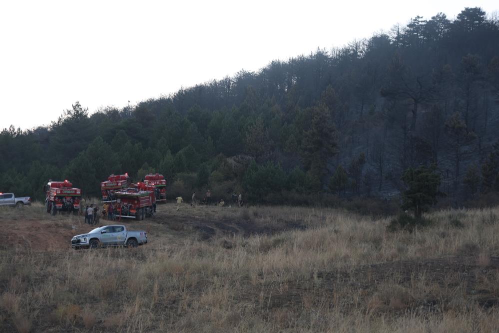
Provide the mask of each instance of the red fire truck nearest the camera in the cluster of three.
[{"label": "red fire truck nearest the camera in the cluster of three", "polygon": [[156,211],[156,195],[153,186],[137,183],[135,188],[128,187],[114,191],[116,198],[116,217],[144,219]]}]

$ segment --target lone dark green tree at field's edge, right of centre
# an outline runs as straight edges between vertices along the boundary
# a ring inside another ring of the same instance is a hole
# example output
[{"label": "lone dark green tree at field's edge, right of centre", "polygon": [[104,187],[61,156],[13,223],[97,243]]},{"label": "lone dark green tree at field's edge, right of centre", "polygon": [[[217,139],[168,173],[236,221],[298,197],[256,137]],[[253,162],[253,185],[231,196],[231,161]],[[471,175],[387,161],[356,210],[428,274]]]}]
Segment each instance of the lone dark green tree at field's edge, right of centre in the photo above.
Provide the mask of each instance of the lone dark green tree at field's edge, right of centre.
[{"label": "lone dark green tree at field's edge, right of centre", "polygon": [[427,206],[437,203],[437,197],[444,195],[439,190],[440,174],[436,170],[436,165],[422,165],[415,169],[408,168],[402,176],[407,189],[402,194],[401,207],[413,210],[416,219],[421,219]]}]

